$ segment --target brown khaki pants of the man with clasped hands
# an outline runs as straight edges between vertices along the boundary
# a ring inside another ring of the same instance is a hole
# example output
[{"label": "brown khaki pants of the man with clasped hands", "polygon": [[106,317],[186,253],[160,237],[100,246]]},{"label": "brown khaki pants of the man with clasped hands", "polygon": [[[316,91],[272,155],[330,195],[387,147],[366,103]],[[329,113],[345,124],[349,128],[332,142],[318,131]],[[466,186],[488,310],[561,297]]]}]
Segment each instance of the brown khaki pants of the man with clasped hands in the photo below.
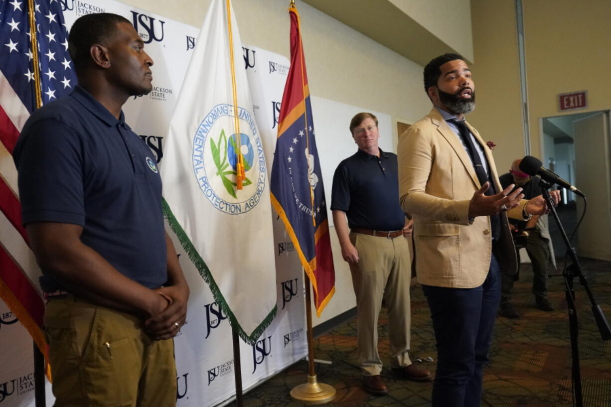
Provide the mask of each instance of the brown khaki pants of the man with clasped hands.
[{"label": "brown khaki pants of the man with clasped hands", "polygon": [[45,332],[55,407],[174,407],[173,340],[152,340],[130,314],[51,299]]}]

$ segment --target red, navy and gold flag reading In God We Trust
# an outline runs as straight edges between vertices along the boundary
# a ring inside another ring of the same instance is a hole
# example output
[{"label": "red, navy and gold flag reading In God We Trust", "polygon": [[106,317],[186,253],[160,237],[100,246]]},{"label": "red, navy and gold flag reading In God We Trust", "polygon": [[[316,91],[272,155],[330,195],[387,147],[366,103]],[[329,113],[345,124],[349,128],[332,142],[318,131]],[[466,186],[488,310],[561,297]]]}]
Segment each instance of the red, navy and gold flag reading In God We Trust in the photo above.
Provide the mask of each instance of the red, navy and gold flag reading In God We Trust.
[{"label": "red, navy and gold flag reading In God We Trust", "polygon": [[320,317],[335,292],[335,270],[295,5],[291,5],[289,14],[291,67],[280,108],[270,180],[271,200],[312,281],[316,315]]}]

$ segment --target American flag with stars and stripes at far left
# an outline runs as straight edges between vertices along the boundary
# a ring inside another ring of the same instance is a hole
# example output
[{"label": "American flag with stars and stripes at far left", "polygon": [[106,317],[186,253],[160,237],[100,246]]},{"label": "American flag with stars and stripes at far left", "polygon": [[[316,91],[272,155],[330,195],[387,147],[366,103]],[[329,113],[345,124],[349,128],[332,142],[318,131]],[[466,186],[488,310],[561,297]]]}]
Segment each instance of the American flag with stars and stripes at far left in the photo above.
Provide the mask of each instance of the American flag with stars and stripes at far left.
[{"label": "American flag with stars and stripes at far left", "polygon": [[[36,39],[43,103],[76,85],[68,55],[68,31],[58,0],[35,5]],[[27,117],[36,109],[34,64],[27,0],[0,0],[0,298],[46,354],[40,327],[44,312],[40,269],[21,226],[17,171],[12,152]]]}]

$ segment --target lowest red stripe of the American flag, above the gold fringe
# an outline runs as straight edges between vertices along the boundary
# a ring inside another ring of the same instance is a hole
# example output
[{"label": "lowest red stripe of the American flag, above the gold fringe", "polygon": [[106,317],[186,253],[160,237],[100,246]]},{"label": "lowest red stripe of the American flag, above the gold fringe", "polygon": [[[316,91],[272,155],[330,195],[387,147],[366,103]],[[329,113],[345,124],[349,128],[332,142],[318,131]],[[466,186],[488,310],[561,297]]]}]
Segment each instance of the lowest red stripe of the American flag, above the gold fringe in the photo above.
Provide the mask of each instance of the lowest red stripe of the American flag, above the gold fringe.
[{"label": "lowest red stripe of the American flag, above the gold fringe", "polygon": [[[38,292],[27,279],[23,271],[16,265],[12,257],[0,246],[0,279],[13,293],[27,314],[38,326],[42,326],[45,303]],[[10,307],[10,304],[9,304]],[[22,319],[19,315],[18,318]]]}]

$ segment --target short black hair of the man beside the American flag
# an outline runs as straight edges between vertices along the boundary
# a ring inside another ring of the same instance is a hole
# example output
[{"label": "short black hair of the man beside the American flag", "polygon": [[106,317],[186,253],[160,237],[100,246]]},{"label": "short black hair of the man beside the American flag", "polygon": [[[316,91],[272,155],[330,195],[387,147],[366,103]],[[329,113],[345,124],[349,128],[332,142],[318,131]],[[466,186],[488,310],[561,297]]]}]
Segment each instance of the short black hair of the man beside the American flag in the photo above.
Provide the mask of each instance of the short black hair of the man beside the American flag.
[{"label": "short black hair of the man beside the American flag", "polygon": [[68,35],[68,52],[78,75],[90,60],[93,44],[106,45],[117,32],[117,24],[130,23],[125,17],[113,13],[92,13],[79,17]]}]

